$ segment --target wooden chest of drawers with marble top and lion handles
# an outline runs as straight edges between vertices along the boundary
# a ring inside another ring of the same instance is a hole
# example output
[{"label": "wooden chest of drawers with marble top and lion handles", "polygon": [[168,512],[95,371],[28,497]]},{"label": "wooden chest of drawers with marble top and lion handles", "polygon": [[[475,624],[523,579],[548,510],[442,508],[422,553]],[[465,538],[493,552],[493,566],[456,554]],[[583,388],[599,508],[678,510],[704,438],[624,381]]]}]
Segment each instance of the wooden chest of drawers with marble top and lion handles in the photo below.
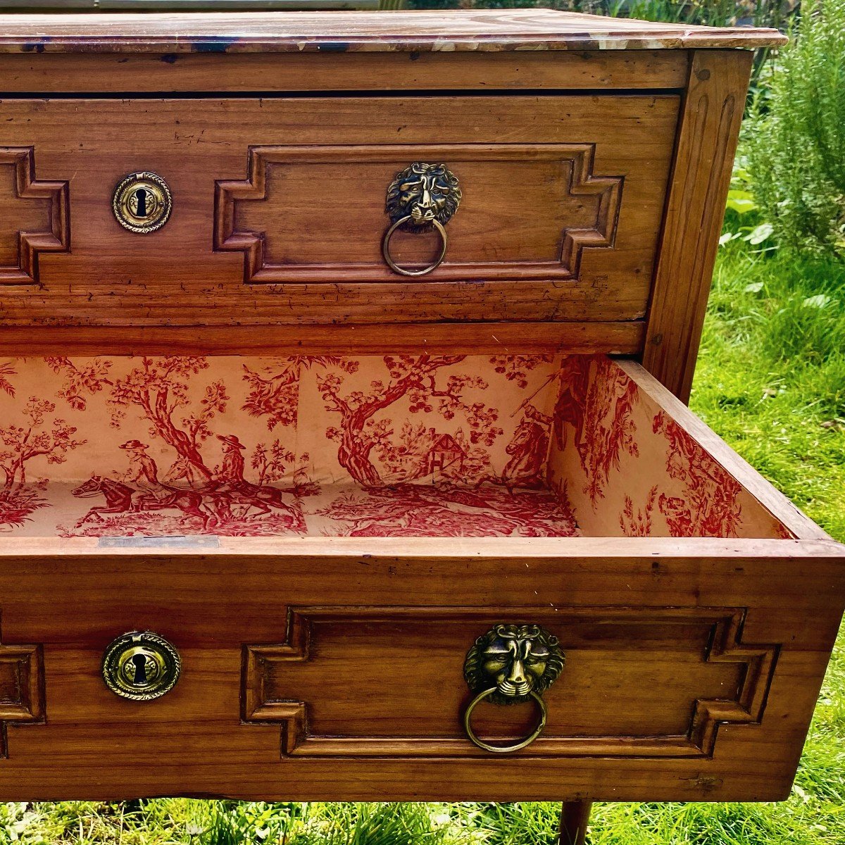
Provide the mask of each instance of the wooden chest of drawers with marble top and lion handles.
[{"label": "wooden chest of drawers with marble top and lion handles", "polygon": [[788,793],[845,550],[683,404],[780,35],[2,23],[0,797]]}]

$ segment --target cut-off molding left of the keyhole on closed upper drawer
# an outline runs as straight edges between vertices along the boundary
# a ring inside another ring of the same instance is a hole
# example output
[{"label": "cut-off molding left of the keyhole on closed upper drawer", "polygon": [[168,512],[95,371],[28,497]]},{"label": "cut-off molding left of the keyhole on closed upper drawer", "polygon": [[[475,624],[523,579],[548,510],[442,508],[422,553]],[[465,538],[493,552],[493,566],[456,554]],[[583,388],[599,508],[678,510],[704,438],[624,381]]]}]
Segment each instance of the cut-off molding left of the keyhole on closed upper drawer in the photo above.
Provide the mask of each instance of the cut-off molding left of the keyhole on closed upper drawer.
[{"label": "cut-off molding left of the keyhole on closed upper drawer", "polygon": [[70,250],[68,183],[35,178],[34,147],[0,147],[0,166],[14,167],[16,199],[46,199],[45,230],[18,232],[18,263],[0,267],[0,285],[37,284],[39,254]]}]

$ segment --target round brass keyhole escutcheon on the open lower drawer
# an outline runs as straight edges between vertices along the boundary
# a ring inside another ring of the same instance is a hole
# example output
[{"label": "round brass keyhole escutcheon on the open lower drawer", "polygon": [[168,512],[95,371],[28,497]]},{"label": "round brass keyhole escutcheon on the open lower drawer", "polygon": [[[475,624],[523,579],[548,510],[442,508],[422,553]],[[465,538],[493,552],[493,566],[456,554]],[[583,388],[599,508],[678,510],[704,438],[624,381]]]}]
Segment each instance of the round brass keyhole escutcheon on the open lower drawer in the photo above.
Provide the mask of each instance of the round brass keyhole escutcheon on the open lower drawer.
[{"label": "round brass keyhole escutcheon on the open lower drawer", "polygon": [[117,637],[103,654],[102,673],[115,695],[150,701],[170,692],[179,679],[179,652],[152,631],[130,631]]}]

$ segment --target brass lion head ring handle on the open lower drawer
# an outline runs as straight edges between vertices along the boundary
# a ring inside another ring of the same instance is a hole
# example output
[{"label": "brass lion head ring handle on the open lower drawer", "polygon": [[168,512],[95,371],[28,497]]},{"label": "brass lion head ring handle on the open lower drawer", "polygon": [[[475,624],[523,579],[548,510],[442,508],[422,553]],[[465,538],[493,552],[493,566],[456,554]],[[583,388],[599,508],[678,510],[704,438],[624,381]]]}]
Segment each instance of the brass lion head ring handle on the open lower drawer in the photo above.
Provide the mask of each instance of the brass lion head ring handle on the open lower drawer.
[{"label": "brass lion head ring handle on the open lower drawer", "polygon": [[[479,748],[499,754],[532,744],[546,727],[542,693],[558,679],[565,659],[558,638],[540,625],[498,624],[478,637],[464,661],[464,679],[475,694],[464,713],[469,739]],[[524,739],[510,745],[492,745],[479,739],[472,730],[472,711],[482,701],[518,704],[529,700],[540,708],[540,719]]]}]

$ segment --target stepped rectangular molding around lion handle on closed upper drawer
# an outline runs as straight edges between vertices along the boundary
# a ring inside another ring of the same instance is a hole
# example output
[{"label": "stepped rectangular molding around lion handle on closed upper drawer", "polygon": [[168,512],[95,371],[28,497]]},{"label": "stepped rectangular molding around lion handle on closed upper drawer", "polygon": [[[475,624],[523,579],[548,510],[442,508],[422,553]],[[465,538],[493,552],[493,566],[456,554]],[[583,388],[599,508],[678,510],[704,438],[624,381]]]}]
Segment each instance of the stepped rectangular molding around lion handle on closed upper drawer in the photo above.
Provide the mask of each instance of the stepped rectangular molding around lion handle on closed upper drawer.
[{"label": "stepped rectangular molding around lion handle on closed upper drawer", "polygon": [[[595,144],[435,144],[432,146],[253,146],[248,150],[247,178],[218,180],[215,183],[214,248],[217,251],[243,252],[244,281],[247,284],[281,282],[317,282],[342,279],[356,281],[397,281],[386,264],[273,264],[267,256],[264,232],[235,228],[236,206],[241,202],[261,201],[267,197],[268,168],[274,164],[337,164],[354,160],[361,164],[383,162],[389,177],[395,174],[396,161],[445,161],[460,177],[461,161],[569,161],[570,179],[562,185],[564,195],[582,197],[594,210],[594,224],[566,227],[560,232],[560,253],[554,261],[501,261],[490,263],[450,263],[447,259],[436,271],[436,281],[461,281],[467,278],[494,280],[573,279],[581,267],[584,248],[613,248],[619,220],[623,177],[596,177],[592,174]],[[369,186],[384,193],[380,186]],[[462,215],[472,214],[472,199],[465,197]],[[384,217],[384,228],[390,221]],[[379,244],[383,230],[373,232]]]}]

